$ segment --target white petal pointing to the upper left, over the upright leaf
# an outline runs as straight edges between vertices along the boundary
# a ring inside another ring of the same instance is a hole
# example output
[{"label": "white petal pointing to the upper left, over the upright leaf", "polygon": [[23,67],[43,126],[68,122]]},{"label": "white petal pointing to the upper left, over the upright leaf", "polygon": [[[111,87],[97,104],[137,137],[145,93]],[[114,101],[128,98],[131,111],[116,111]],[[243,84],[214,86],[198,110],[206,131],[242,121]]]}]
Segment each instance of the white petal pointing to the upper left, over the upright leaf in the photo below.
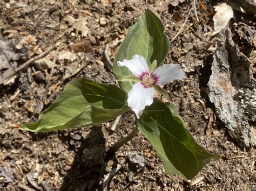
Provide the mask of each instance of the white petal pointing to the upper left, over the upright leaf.
[{"label": "white petal pointing to the upper left, over the upright leaf", "polygon": [[131,60],[118,61],[117,65],[126,66],[139,79],[142,79],[144,74],[149,74],[149,65],[147,65],[146,60],[137,54],[133,55]]}]

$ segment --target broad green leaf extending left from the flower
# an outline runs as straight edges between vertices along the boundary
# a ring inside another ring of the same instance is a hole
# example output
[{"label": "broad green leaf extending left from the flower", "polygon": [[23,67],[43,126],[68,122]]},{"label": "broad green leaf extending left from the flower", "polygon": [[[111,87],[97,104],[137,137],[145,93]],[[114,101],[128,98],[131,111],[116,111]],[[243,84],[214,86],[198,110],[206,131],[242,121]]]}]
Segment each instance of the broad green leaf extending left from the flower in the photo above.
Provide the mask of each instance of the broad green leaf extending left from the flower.
[{"label": "broad green leaf extending left from the flower", "polygon": [[37,122],[22,129],[46,132],[100,124],[129,111],[125,101],[125,91],[117,86],[81,77],[66,85]]}]

